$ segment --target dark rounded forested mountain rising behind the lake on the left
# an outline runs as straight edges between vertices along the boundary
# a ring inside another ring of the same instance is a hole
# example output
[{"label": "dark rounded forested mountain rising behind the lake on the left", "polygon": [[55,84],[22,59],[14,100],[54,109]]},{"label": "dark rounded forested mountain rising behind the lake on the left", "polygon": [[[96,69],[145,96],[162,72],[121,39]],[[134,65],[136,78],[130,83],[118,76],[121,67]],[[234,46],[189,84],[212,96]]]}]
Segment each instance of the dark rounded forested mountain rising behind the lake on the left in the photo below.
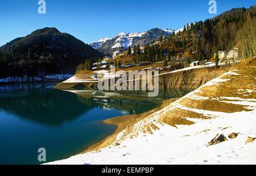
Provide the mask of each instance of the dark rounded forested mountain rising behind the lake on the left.
[{"label": "dark rounded forested mountain rising behind the lake on the left", "polygon": [[68,33],[43,28],[0,48],[0,78],[75,74],[77,65],[102,54]]}]

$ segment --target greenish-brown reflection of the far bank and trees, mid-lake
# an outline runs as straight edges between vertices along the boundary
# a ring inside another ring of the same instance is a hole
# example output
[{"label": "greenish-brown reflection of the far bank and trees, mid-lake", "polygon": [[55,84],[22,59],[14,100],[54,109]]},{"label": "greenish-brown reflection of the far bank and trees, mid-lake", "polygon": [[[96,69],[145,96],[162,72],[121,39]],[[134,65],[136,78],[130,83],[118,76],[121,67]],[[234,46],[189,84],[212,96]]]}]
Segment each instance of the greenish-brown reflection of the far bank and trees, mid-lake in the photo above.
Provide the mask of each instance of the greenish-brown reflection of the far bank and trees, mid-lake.
[{"label": "greenish-brown reflection of the far bank and trees, mid-lake", "polygon": [[[114,91],[115,94],[110,97],[108,95],[110,92],[98,91],[96,95],[100,96],[95,96],[94,101],[100,108],[115,108],[121,112],[129,112],[129,114],[140,114],[160,106],[165,99],[183,97],[190,91],[188,89],[161,89],[157,97],[147,97],[147,91]],[[86,90],[76,94],[81,102],[90,103],[88,97],[92,94]]]}]

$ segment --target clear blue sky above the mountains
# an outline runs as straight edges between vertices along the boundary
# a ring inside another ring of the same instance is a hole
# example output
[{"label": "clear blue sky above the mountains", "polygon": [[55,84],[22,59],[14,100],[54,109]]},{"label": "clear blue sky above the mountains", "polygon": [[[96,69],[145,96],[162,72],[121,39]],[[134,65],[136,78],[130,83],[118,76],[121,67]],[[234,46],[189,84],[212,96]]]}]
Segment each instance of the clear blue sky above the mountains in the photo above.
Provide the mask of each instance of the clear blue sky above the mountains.
[{"label": "clear blue sky above the mountains", "polygon": [[226,10],[255,5],[255,0],[216,0],[217,14],[209,14],[209,0],[45,1],[46,14],[38,14],[38,0],[0,0],[0,46],[44,27],[56,27],[88,44],[121,32],[178,30]]}]

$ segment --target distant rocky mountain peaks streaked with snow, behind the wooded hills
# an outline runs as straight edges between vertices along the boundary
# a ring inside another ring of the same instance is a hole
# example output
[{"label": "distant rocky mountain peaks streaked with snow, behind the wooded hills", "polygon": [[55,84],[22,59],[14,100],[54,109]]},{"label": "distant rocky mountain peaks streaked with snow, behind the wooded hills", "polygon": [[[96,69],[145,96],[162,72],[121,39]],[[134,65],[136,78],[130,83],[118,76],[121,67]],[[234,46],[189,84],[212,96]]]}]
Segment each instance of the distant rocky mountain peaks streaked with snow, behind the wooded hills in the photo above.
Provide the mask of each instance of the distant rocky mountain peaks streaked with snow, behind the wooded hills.
[{"label": "distant rocky mountain peaks streaked with snow, behind the wooded hills", "polygon": [[96,43],[90,44],[94,49],[97,49],[104,55],[113,55],[126,51],[129,46],[134,45],[144,46],[146,43],[150,43],[152,40],[159,40],[160,36],[166,37],[171,35],[174,30],[165,28],[163,30],[159,28],[152,28],[146,32],[122,32],[112,39],[104,38]]}]

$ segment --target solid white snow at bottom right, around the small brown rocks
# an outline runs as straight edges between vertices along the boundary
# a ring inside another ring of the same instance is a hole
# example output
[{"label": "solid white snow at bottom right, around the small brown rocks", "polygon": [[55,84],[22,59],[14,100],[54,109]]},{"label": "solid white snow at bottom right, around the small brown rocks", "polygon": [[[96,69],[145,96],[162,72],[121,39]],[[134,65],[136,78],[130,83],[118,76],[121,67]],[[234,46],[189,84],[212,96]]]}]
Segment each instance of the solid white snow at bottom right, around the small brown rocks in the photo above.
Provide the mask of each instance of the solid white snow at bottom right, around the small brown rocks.
[{"label": "solid white snow at bottom right, around the small brown rocks", "polygon": [[[255,141],[245,143],[247,136],[256,136],[255,113],[225,114],[178,128],[159,125],[154,135],[140,135],[100,149],[100,153],[79,154],[49,164],[256,164]],[[228,137],[232,132],[240,134],[236,139],[227,138],[228,141],[207,147],[217,133]]]}]

